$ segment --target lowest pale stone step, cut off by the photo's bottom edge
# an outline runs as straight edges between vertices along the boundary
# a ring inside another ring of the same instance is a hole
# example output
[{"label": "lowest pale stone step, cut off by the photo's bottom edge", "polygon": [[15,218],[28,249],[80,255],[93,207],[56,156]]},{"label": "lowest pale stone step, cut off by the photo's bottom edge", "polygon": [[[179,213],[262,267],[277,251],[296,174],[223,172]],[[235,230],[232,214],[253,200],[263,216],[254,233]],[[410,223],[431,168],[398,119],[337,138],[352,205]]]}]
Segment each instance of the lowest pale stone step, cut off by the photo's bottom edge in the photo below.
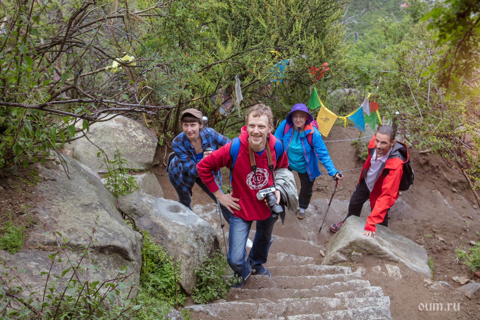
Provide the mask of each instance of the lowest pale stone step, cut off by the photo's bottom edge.
[{"label": "lowest pale stone step, cut off by the photo's bottom edge", "polygon": [[392,320],[390,307],[367,307],[327,311],[322,314],[301,314],[284,318],[286,320]]}]

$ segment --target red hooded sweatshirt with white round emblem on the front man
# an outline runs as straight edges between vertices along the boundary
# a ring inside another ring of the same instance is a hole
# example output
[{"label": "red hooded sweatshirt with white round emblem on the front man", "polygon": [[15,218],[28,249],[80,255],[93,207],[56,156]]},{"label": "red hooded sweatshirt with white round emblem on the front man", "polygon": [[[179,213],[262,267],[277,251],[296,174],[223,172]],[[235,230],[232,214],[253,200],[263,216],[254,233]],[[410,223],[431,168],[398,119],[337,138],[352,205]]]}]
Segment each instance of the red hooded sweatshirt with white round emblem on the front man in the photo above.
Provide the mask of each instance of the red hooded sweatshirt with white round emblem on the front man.
[{"label": "red hooded sweatshirt with white round emblem on the front man", "polygon": [[[265,205],[264,200],[257,199],[256,194],[258,190],[272,186],[274,184],[273,177],[270,170],[268,170],[268,155],[266,150],[264,150],[261,155],[254,152],[255,164],[257,166],[257,184],[255,184],[252,168],[250,166],[250,156],[248,154],[248,133],[246,128],[246,126],[241,128],[240,150],[237,156],[237,161],[232,170],[231,183],[233,189],[232,196],[233,198],[240,199],[238,204],[240,205],[241,210],[237,211],[233,209],[232,211],[233,215],[246,221],[265,220],[270,216],[270,209]],[[270,134],[267,141],[272,152],[274,168],[287,168],[288,157],[285,152],[280,155],[278,161],[276,161],[275,136]],[[216,172],[224,166],[230,167],[232,163],[232,158],[230,156],[230,143],[227,143],[220,149],[214,151],[197,164],[198,176],[211,192],[218,190],[212,172]]]}]

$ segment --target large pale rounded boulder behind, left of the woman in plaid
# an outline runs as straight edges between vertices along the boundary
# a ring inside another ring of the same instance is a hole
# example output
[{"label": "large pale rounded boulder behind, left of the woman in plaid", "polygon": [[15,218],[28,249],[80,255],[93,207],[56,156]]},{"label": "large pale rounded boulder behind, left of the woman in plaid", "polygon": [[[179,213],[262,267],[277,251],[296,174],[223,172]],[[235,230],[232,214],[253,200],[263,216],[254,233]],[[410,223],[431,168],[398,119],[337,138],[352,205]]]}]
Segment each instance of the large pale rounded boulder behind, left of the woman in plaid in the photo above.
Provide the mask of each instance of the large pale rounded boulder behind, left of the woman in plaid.
[{"label": "large pale rounded boulder behind, left of the woman in plaid", "polygon": [[91,142],[83,137],[65,143],[64,148],[71,151],[73,159],[96,172],[106,173],[108,170],[102,166],[102,156],[96,156],[98,148],[93,143],[105,150],[109,160],[114,160],[115,150],[120,149],[131,169],[146,170],[152,166],[158,139],[135,120],[117,116],[106,122],[96,122],[86,135]]}]

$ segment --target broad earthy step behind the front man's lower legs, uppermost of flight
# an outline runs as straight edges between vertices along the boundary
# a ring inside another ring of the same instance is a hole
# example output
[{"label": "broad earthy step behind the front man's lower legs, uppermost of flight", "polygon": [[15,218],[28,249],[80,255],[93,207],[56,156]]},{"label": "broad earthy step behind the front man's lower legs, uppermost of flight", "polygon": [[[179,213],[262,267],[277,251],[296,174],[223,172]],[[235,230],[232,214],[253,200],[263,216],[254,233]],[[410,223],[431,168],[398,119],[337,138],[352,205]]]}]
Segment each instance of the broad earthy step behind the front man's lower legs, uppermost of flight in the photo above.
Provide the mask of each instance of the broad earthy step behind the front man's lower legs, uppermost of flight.
[{"label": "broad earthy step behind the front man's lower legs, uppermost of flight", "polygon": [[[255,237],[255,231],[250,230],[249,239],[253,241]],[[320,250],[325,248],[322,246],[317,246],[310,241],[293,239],[293,238],[284,238],[276,235],[272,235],[273,242],[268,249],[268,254],[276,254],[279,252],[285,254],[293,254],[296,256],[305,256],[313,257],[314,259],[319,256]]]}]

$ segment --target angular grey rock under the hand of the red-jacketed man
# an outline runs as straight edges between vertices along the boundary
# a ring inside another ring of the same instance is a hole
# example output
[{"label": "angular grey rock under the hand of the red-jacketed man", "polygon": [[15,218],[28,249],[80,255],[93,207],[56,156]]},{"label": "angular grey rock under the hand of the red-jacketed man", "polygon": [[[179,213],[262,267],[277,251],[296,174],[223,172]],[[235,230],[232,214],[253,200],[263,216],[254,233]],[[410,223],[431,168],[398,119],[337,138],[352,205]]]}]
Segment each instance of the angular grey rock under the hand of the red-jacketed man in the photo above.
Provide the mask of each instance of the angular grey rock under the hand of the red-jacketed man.
[{"label": "angular grey rock under the hand of the red-jacketed man", "polygon": [[362,235],[365,218],[350,216],[330,239],[323,265],[346,261],[352,250],[385,260],[403,262],[408,268],[431,276],[427,251],[406,237],[377,225],[376,239]]}]

